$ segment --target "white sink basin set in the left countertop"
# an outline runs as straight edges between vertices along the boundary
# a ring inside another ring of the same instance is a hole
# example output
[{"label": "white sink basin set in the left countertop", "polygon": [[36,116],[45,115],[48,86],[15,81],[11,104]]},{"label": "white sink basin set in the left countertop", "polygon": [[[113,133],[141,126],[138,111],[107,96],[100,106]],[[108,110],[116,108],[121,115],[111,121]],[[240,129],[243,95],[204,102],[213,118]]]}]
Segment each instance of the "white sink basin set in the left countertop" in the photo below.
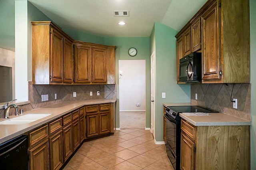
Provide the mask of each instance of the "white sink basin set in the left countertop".
[{"label": "white sink basin set in the left countertop", "polygon": [[30,113],[26,115],[21,115],[18,117],[14,117],[11,119],[7,119],[0,122],[0,125],[21,125],[21,124],[27,124],[34,121],[37,121],[39,119],[42,119],[44,117],[50,116],[52,114],[50,113]]}]

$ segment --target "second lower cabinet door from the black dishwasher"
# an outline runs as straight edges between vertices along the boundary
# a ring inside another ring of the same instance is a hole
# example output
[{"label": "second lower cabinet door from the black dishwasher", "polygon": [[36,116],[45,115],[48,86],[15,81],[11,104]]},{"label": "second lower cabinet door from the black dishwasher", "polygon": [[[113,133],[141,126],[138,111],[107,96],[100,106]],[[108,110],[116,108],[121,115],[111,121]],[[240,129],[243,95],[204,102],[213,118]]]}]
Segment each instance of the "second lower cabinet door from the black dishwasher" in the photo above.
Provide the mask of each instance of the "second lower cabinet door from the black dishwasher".
[{"label": "second lower cabinet door from the black dishwasher", "polygon": [[49,138],[50,170],[58,170],[63,165],[62,130]]}]

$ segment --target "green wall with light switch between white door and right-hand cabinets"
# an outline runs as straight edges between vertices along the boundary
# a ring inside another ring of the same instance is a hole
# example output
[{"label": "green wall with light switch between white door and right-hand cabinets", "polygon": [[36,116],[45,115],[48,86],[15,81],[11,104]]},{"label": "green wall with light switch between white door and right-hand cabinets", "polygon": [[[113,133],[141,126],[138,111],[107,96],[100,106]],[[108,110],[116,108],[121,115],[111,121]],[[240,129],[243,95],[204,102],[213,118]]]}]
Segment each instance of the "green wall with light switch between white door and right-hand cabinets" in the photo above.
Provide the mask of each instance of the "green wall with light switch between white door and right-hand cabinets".
[{"label": "green wall with light switch between white door and right-hand cabinets", "polygon": [[[155,23],[150,36],[151,48],[156,50],[156,141],[163,141],[163,103],[190,103],[190,85],[176,84],[176,34],[176,30]],[[166,93],[166,99],[162,99],[162,92]]]}]

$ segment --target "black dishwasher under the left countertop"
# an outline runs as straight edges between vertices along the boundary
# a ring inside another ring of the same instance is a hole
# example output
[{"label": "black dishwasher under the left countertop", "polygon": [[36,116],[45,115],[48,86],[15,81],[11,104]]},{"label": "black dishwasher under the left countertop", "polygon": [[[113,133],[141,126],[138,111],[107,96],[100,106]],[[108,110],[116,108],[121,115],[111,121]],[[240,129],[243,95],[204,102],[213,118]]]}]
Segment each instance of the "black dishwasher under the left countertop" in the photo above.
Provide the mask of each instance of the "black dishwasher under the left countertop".
[{"label": "black dishwasher under the left countertop", "polygon": [[28,170],[28,136],[20,135],[0,144],[1,170]]}]

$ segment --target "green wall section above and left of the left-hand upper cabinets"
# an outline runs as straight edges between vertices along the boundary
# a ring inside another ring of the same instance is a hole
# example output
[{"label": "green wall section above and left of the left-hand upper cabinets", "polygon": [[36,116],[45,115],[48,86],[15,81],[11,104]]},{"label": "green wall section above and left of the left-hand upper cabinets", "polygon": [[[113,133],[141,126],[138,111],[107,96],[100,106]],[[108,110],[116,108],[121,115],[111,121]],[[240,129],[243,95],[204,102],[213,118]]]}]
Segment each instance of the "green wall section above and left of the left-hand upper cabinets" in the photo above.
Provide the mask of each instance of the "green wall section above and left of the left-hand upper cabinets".
[{"label": "green wall section above and left of the left-hand upper cabinets", "polygon": [[32,81],[32,26],[31,21],[49,21],[44,13],[42,13],[33,4],[28,2],[28,81]]}]

